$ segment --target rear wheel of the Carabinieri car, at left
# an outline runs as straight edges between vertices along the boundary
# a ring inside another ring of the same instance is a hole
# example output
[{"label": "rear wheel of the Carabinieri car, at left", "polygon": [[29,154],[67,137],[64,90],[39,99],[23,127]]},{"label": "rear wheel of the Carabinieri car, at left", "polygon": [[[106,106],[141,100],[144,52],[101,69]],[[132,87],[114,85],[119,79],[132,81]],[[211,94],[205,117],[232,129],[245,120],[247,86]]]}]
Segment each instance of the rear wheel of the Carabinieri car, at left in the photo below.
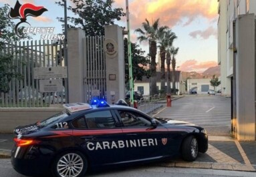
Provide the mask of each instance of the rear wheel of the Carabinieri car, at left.
[{"label": "rear wheel of the Carabinieri car, at left", "polygon": [[[59,154],[53,161],[52,174],[56,177],[82,177],[88,168],[88,160],[78,151]],[[71,174],[71,175],[70,175]]]}]

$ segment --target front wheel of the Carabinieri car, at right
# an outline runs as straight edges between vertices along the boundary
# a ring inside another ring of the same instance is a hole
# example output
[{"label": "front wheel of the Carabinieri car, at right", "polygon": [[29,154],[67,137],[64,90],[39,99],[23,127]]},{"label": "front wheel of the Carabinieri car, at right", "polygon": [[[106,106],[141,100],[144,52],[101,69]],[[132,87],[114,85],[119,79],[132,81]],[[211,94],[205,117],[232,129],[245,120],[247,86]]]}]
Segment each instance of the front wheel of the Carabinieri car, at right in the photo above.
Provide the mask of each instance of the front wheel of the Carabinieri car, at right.
[{"label": "front wheel of the Carabinieri car, at right", "polygon": [[192,162],[197,159],[199,153],[199,144],[197,138],[188,136],[182,143],[182,158],[186,161]]}]

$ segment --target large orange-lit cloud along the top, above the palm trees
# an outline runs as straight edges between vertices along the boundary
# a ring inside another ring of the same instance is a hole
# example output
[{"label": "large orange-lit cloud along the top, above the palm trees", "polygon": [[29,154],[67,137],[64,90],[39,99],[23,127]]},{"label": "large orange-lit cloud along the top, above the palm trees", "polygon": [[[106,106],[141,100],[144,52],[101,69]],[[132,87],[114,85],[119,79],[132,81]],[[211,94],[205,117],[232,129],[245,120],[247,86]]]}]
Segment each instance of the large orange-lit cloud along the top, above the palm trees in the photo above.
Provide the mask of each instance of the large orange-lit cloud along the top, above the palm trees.
[{"label": "large orange-lit cloud along the top, above the palm trees", "polygon": [[[116,0],[115,5],[126,11],[124,0]],[[217,17],[217,7],[216,0],[134,0],[129,4],[131,28],[141,27],[146,18],[150,22],[160,18],[160,25],[169,27],[189,25],[197,17],[213,21]]]}]

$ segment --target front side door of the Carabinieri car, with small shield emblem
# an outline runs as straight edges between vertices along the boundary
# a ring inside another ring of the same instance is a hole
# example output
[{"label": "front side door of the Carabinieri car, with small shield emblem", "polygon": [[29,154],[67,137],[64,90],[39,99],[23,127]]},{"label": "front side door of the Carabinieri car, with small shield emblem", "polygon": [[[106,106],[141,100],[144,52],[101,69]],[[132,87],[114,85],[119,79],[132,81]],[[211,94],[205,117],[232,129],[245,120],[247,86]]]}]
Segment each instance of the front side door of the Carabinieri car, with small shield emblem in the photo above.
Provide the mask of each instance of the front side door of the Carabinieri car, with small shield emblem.
[{"label": "front side door of the Carabinieri car, with small shield emblem", "polygon": [[128,161],[152,160],[170,154],[167,128],[153,127],[152,119],[136,110],[119,109],[116,114],[122,125]]}]

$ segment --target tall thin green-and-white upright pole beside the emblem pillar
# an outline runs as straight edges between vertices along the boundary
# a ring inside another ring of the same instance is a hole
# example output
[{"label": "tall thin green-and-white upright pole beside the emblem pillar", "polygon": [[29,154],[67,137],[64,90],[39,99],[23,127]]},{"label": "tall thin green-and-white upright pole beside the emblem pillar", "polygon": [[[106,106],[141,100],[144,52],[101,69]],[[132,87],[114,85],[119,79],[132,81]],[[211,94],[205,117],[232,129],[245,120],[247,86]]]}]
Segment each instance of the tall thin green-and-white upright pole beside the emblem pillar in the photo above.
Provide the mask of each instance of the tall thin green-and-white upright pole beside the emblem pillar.
[{"label": "tall thin green-and-white upright pole beside the emblem pillar", "polygon": [[133,77],[132,77],[132,49],[130,43],[130,17],[129,17],[129,3],[126,0],[126,19],[127,19],[127,31],[128,31],[128,64],[129,64],[129,83],[130,83],[130,104],[134,105],[134,87],[133,87]]}]

